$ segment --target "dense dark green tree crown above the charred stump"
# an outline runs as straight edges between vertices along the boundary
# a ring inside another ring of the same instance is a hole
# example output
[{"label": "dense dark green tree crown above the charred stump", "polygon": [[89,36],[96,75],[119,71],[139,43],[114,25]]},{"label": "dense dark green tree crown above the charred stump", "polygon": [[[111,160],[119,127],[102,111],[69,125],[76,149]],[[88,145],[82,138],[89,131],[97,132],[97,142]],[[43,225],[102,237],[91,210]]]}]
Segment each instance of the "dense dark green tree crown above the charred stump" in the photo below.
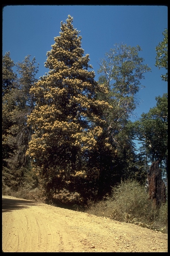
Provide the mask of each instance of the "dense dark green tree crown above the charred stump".
[{"label": "dense dark green tree crown above the charred stump", "polygon": [[141,118],[133,123],[133,132],[143,147],[151,162],[165,161],[168,157],[168,94],[156,97],[156,107],[143,113]]}]

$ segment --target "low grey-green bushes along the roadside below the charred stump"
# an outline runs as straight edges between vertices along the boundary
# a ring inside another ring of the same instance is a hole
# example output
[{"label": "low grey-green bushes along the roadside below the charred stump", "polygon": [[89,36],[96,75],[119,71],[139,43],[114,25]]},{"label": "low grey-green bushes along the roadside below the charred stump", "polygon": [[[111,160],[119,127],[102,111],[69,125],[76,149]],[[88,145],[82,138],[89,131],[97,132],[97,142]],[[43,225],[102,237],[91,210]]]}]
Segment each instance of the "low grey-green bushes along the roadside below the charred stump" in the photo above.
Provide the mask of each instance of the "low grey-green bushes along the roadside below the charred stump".
[{"label": "low grey-green bushes along the roadside below the charred stump", "polygon": [[85,212],[167,232],[167,204],[160,209],[155,207],[145,187],[135,180],[121,182],[105,200],[97,203],[89,200]]}]

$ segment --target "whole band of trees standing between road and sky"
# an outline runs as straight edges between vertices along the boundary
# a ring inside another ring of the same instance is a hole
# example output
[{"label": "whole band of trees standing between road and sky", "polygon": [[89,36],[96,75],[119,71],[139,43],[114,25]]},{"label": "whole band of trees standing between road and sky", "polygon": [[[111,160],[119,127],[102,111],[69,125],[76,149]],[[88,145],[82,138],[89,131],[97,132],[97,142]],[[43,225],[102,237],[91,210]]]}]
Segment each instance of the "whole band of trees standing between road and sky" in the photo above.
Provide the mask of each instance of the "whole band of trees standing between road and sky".
[{"label": "whole band of trees standing between road and sky", "polygon": [[[167,185],[168,94],[131,121],[151,71],[139,57],[141,47],[115,44],[96,81],[72,23],[70,15],[61,22],[46,54],[49,71],[39,79],[35,58],[14,63],[10,52],[2,56],[3,186],[39,188],[44,202],[82,205],[110,194],[121,180],[145,184],[153,161]],[[162,35],[154,65],[167,70],[168,30]],[[167,73],[160,79],[168,81]]]}]

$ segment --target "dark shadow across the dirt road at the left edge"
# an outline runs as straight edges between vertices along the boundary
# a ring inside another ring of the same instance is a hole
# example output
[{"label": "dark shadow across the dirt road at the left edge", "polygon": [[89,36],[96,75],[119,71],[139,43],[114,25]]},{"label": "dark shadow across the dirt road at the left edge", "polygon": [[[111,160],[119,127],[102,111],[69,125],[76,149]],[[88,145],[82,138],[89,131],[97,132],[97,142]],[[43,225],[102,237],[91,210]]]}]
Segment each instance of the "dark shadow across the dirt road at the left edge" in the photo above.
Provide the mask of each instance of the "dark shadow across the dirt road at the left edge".
[{"label": "dark shadow across the dirt road at the left edge", "polygon": [[37,202],[22,199],[2,198],[2,212],[10,212],[37,205]]}]

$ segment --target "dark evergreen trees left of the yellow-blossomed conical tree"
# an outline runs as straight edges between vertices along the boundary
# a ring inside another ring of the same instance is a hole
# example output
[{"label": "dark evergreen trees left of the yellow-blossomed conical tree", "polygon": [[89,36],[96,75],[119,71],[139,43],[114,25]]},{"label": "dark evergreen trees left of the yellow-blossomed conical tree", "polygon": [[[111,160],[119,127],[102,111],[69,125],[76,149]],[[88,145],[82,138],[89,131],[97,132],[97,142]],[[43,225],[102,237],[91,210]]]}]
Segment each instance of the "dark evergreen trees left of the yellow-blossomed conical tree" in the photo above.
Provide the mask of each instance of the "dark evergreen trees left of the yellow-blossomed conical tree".
[{"label": "dark evergreen trees left of the yellow-blossomed conical tree", "polygon": [[9,62],[9,53],[6,53],[3,57],[3,82],[8,81],[8,87],[4,86],[6,89],[2,104],[3,183],[17,190],[22,186],[24,176],[30,168],[26,150],[32,128],[27,125],[27,115],[33,110],[34,100],[29,90],[36,81],[38,69],[35,58],[31,61],[30,56],[27,56],[23,62],[15,64],[19,77],[12,73],[12,69],[8,69],[11,71],[10,75],[6,72],[7,56],[8,63],[13,63]]}]

